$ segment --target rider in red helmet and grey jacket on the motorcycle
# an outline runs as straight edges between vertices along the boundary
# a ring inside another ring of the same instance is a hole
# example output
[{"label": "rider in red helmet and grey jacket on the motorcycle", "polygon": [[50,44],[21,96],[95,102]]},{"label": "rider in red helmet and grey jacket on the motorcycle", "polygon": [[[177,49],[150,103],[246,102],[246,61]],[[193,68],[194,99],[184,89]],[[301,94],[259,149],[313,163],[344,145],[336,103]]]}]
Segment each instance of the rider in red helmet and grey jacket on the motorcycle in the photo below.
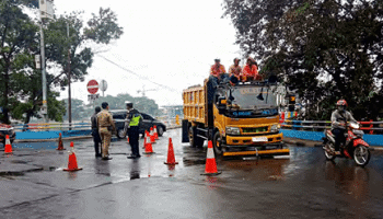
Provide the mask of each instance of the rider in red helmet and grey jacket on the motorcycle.
[{"label": "rider in red helmet and grey jacket on the motorcycle", "polygon": [[332,131],[335,136],[335,154],[339,155],[339,146],[345,143],[345,131],[348,122],[358,123],[351,115],[350,112],[346,111],[347,102],[345,100],[339,100],[336,103],[337,110],[332,114]]}]

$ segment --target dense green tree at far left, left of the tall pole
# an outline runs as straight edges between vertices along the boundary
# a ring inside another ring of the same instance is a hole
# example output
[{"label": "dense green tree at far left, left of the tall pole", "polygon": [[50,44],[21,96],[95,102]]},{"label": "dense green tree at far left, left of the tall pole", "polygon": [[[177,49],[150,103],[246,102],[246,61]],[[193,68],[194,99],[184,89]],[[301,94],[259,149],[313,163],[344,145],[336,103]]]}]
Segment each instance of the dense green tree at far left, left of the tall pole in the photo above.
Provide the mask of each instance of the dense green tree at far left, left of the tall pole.
[{"label": "dense green tree at far left, left of the tall pole", "polygon": [[[39,54],[38,26],[21,9],[30,2],[0,2],[0,105],[5,108],[0,118],[7,124],[10,115],[28,123],[31,116],[39,116],[42,105],[42,74],[34,66],[34,55]],[[58,93],[48,89],[47,95],[49,118],[62,119],[62,104],[56,101]]]}]

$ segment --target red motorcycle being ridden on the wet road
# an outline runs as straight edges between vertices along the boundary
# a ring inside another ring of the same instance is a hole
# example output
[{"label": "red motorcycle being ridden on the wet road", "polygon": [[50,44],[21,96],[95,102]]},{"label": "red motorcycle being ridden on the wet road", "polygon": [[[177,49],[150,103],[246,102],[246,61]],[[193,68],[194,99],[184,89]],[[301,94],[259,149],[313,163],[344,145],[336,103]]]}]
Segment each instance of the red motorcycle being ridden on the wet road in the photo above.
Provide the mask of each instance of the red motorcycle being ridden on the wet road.
[{"label": "red motorcycle being ridden on the wet road", "polygon": [[327,160],[333,161],[336,157],[353,159],[359,166],[364,166],[369,163],[371,153],[369,143],[363,140],[364,132],[359,129],[359,124],[347,123],[347,131],[345,131],[346,142],[340,143],[340,154],[335,153],[335,135],[332,130],[325,130],[323,138],[323,149]]}]

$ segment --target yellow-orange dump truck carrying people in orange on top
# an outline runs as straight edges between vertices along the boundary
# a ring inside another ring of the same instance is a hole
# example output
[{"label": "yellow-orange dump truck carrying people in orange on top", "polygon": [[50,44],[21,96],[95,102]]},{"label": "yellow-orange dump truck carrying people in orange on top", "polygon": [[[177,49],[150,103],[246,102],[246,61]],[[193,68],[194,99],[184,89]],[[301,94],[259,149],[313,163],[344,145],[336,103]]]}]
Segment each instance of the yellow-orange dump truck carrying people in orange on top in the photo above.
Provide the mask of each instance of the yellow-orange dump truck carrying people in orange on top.
[{"label": "yellow-orange dump truck carrying people in orange on top", "polygon": [[277,83],[240,82],[183,91],[183,142],[202,147],[212,140],[216,155],[286,155],[279,131]]}]

